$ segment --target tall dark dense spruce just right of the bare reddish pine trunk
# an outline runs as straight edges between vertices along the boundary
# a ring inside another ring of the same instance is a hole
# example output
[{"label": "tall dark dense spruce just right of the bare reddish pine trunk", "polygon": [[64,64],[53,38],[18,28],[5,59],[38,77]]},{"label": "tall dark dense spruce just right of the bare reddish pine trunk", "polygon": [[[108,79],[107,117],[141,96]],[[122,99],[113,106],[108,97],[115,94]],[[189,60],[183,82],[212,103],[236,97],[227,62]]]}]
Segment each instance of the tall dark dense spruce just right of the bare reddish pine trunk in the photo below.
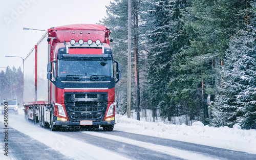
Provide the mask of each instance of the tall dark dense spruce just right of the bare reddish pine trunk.
[{"label": "tall dark dense spruce just right of the bare reddish pine trunk", "polygon": [[161,108],[161,115],[168,115],[169,97],[167,85],[170,77],[170,61],[173,49],[168,41],[171,19],[170,9],[173,7],[169,0],[153,0],[148,3],[148,30],[150,31],[148,47],[150,52],[148,60],[148,93],[150,105],[153,111],[153,118],[156,117],[156,109]]}]

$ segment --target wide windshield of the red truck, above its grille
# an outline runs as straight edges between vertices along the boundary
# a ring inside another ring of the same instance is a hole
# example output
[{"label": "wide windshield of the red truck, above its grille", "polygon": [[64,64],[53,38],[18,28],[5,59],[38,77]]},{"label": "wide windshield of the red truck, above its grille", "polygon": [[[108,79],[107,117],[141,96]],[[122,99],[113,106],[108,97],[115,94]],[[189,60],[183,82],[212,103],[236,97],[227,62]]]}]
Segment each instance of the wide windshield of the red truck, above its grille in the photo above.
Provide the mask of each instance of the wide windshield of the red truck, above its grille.
[{"label": "wide windshield of the red truck, above its grille", "polygon": [[112,60],[58,60],[57,76],[113,76]]}]

